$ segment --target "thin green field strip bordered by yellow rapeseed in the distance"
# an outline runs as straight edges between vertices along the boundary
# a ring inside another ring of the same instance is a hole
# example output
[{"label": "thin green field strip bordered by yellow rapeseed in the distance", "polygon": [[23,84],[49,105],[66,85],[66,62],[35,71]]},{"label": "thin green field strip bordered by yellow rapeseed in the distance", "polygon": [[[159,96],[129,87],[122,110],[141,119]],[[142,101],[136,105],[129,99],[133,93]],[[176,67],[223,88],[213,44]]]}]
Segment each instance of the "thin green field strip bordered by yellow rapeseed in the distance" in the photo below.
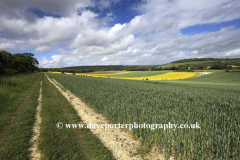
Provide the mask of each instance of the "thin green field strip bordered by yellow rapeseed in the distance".
[{"label": "thin green field strip bordered by yellow rapeseed in the distance", "polygon": [[154,76],[159,74],[164,74],[172,71],[138,71],[133,73],[110,75],[109,77],[144,77],[144,76]]}]

